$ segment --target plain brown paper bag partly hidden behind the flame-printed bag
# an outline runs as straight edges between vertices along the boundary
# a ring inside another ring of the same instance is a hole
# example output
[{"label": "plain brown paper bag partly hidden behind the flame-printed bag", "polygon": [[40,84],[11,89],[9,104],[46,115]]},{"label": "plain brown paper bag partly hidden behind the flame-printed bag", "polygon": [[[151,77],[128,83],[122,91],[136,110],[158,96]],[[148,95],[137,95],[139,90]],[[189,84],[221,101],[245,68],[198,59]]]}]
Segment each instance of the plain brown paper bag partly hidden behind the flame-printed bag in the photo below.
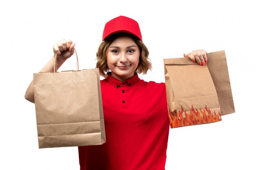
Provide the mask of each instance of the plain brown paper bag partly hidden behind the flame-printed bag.
[{"label": "plain brown paper bag partly hidden behind the flame-printed bag", "polygon": [[207,53],[207,66],[218,94],[221,115],[235,113],[225,51]]}]

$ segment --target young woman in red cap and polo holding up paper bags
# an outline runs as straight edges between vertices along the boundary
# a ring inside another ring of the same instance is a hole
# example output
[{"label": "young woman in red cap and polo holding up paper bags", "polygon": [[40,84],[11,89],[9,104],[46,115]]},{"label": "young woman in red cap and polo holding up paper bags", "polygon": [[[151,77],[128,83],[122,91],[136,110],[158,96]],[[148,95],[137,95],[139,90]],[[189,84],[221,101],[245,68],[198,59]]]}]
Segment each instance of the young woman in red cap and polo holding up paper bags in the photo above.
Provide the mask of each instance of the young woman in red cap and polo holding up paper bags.
[{"label": "young woman in red cap and polo holding up paper bags", "polygon": [[[74,53],[71,40],[53,46],[57,68]],[[80,146],[81,170],[164,170],[169,132],[164,83],[144,82],[137,73],[151,69],[139,24],[124,16],[106,23],[97,52],[106,143]],[[206,51],[184,57],[204,65]],[[54,56],[41,71],[53,71]],[[33,81],[25,98],[34,102]]]}]

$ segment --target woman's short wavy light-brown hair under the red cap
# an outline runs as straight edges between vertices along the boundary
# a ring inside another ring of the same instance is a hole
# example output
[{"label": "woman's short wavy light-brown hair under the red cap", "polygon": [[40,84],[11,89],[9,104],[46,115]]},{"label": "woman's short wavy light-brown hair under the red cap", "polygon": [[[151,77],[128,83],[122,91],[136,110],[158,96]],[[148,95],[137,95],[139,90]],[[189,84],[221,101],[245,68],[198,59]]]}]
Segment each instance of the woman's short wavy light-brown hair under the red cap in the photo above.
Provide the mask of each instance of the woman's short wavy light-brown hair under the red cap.
[{"label": "woman's short wavy light-brown hair under the red cap", "polygon": [[108,64],[107,64],[108,47],[110,46],[110,44],[112,44],[112,42],[115,41],[115,39],[117,39],[121,35],[129,35],[132,38],[132,40],[134,40],[134,42],[138,45],[140,55],[139,55],[139,64],[138,64],[135,72],[137,72],[139,74],[140,73],[146,74],[148,70],[152,69],[152,64],[151,64],[150,59],[148,58],[149,52],[148,52],[146,45],[141,40],[139,40],[137,37],[135,37],[131,34],[115,33],[113,35],[110,35],[103,42],[101,42],[101,44],[99,45],[98,52],[96,53],[96,57],[97,57],[96,68],[99,68],[100,75],[105,78],[108,77],[108,75],[106,74],[109,71]]}]

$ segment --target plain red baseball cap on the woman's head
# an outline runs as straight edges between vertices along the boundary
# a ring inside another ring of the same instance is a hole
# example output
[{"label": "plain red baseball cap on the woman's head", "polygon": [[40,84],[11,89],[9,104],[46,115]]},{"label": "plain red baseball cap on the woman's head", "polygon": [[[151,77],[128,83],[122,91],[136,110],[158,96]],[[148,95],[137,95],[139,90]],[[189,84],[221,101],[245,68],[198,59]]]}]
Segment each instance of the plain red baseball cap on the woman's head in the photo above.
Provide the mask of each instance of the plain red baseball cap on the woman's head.
[{"label": "plain red baseball cap on the woman's head", "polygon": [[142,41],[139,24],[132,18],[119,16],[107,22],[103,30],[102,41],[114,33],[130,33]]}]

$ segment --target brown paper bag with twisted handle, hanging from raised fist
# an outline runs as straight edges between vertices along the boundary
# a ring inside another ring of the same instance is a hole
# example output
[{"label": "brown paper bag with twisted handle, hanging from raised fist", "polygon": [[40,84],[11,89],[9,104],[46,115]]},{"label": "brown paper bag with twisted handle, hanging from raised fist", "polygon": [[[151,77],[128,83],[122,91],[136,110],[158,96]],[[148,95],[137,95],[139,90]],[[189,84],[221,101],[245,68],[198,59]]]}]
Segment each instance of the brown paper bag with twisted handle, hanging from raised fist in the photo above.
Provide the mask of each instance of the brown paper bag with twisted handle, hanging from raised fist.
[{"label": "brown paper bag with twisted handle, hanging from raised fist", "polygon": [[98,68],[34,73],[34,95],[39,148],[106,141]]}]

